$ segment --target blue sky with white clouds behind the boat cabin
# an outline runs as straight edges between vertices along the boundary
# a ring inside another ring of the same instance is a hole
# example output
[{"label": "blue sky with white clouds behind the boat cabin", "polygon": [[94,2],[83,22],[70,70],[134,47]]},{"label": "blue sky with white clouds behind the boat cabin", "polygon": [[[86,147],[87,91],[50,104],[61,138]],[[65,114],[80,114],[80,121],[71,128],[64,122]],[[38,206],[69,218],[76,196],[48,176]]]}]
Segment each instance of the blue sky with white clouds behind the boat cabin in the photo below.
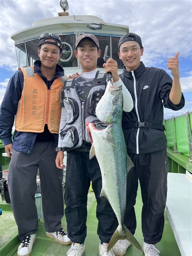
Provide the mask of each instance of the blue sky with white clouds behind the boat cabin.
[{"label": "blue sky with white clouds behind the boat cabin", "polygon": [[[0,102],[7,83],[17,70],[11,34],[30,27],[39,19],[58,16],[60,0],[1,0]],[[180,111],[164,110],[164,117],[192,111],[192,1],[191,0],[68,0],[70,15],[95,15],[105,22],[128,25],[141,36],[145,66],[166,68],[169,57],[179,54],[181,88],[186,106]]]}]

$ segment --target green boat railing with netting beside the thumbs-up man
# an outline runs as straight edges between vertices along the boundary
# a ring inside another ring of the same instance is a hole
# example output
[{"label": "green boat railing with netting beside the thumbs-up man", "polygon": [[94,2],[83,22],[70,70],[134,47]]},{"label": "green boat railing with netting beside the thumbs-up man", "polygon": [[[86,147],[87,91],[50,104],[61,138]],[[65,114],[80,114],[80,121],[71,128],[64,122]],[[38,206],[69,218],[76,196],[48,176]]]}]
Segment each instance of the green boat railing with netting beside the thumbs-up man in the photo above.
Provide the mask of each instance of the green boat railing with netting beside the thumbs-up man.
[{"label": "green boat railing with netting beside the thumbs-up man", "polygon": [[164,125],[169,172],[186,173],[192,164],[192,113],[164,119]]}]

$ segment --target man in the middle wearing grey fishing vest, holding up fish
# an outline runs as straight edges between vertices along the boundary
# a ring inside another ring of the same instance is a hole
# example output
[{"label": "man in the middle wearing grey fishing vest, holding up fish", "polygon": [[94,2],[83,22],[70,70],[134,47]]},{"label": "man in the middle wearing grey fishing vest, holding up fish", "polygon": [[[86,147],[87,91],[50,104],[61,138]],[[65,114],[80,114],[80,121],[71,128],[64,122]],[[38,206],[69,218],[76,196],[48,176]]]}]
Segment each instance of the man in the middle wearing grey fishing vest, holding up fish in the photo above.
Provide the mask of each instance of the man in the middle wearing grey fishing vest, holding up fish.
[{"label": "man in the middle wearing grey fishing vest, holding up fish", "polygon": [[[67,151],[67,175],[65,183],[65,215],[68,237],[73,244],[67,256],[85,255],[85,237],[87,235],[87,194],[92,181],[98,218],[98,236],[100,238],[98,255],[115,256],[110,251],[107,254],[107,245],[115,229],[117,218],[111,205],[104,196],[100,197],[102,177],[98,162],[94,156],[90,160],[91,142],[85,128],[86,121],[100,123],[95,115],[98,101],[105,92],[106,73],[98,71],[97,59],[100,57],[98,39],[92,34],[82,34],[76,41],[75,56],[79,59],[82,73],[74,79],[65,82],[62,90],[62,115],[60,122],[60,136],[56,165],[63,168],[63,151]],[[117,63],[111,70],[113,85],[122,85],[117,74]],[[116,65],[116,66],[115,66]],[[132,109],[132,98],[124,86],[124,96],[127,104],[124,111]],[[93,254],[94,255],[94,254]]]}]

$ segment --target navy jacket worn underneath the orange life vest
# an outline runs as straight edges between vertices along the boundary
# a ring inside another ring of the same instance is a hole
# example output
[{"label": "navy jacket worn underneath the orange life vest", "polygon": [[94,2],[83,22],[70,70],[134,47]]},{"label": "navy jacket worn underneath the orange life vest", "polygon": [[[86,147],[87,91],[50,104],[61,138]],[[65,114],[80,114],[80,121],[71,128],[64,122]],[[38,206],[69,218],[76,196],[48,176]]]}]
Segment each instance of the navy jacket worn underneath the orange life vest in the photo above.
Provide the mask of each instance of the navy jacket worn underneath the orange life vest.
[{"label": "navy jacket worn underneath the orange life vest", "polygon": [[[53,81],[64,76],[63,68],[57,64],[55,77],[48,81],[46,77],[41,74],[41,61],[36,60],[34,62],[34,72],[40,75],[47,85],[48,90]],[[0,107],[0,139],[2,139],[4,145],[12,143],[12,128],[15,121],[15,115],[17,113],[17,106],[21,93],[23,90],[23,72],[18,69],[15,74],[9,80],[6,88],[6,92]],[[55,138],[55,147],[58,145],[58,134],[53,134]],[[13,134],[13,149],[22,152],[24,154],[30,154],[33,149],[34,142],[37,133],[35,132],[18,132],[15,130]]]}]

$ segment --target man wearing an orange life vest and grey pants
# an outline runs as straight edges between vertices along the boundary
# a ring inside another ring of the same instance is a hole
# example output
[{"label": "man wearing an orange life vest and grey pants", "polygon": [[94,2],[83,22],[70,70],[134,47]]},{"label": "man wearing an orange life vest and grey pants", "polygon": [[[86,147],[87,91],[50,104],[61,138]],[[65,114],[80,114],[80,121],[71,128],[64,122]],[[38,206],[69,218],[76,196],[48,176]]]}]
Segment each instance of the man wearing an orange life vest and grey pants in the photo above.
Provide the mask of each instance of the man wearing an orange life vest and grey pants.
[{"label": "man wearing an orange life vest and grey pants", "polygon": [[38,47],[40,60],[15,72],[0,110],[0,137],[11,158],[8,176],[11,207],[22,241],[18,256],[30,255],[36,239],[38,216],[34,196],[38,169],[46,235],[61,244],[71,243],[61,226],[63,173],[55,165],[60,93],[66,80],[63,68],[58,65],[62,42],[58,35],[44,33]]}]

